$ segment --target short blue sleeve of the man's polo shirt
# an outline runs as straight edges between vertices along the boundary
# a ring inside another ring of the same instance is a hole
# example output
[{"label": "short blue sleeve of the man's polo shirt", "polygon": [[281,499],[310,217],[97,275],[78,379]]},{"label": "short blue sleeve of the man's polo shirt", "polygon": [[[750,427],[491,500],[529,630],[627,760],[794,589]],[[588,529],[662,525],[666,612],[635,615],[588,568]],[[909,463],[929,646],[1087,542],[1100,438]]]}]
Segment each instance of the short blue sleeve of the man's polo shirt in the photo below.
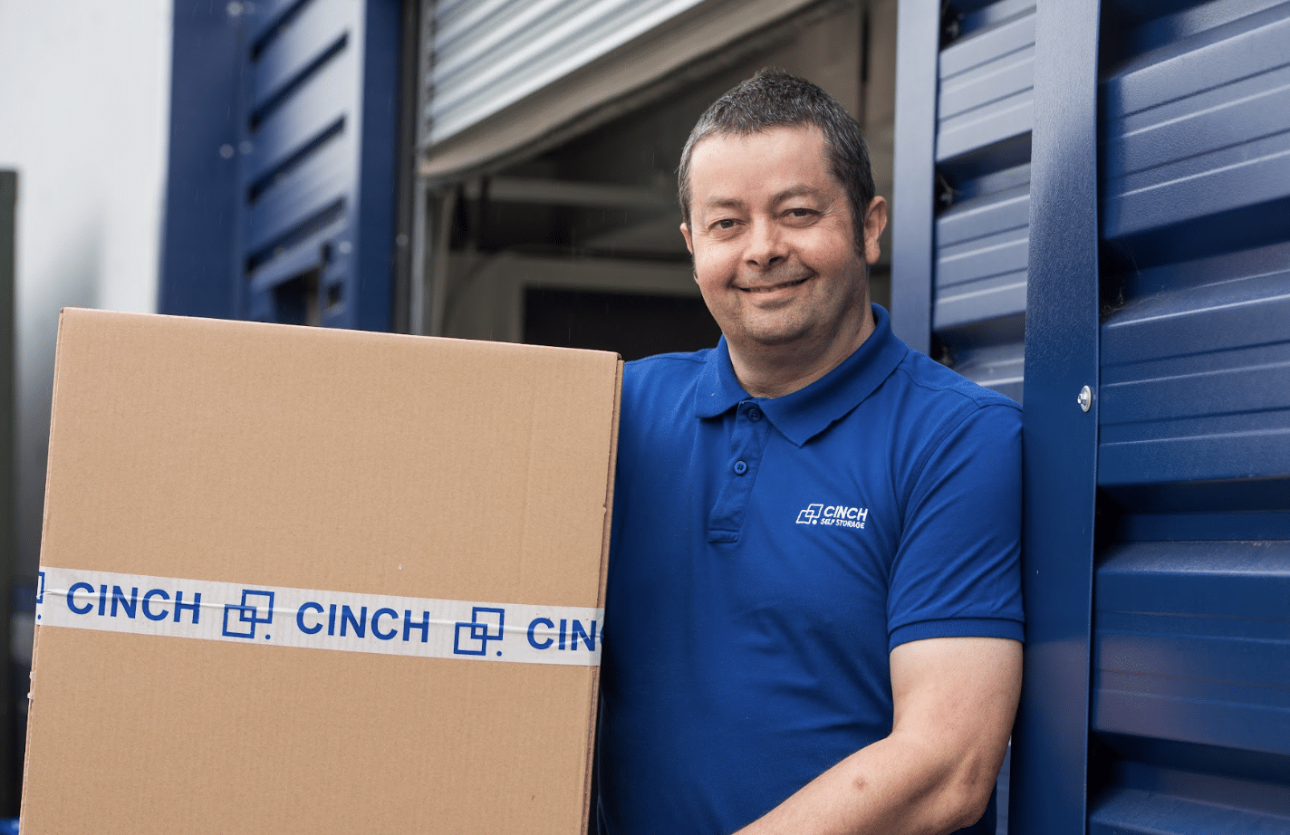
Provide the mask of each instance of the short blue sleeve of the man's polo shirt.
[{"label": "short blue sleeve of the man's polo shirt", "polygon": [[906,505],[888,585],[889,650],[926,638],[1023,640],[1022,422],[974,408],[937,441]]}]

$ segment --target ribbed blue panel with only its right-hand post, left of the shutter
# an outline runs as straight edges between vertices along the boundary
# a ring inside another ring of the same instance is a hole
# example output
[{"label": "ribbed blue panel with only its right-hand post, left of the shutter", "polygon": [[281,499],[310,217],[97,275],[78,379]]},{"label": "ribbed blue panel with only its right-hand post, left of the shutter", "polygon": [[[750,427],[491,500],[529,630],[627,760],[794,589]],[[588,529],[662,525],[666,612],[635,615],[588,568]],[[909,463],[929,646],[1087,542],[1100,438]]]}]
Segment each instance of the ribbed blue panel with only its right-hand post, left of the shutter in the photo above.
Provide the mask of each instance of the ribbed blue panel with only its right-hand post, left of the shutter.
[{"label": "ribbed blue panel with only its right-hand post, left of the shutter", "polygon": [[254,8],[240,188],[249,319],[387,329],[397,4]]}]

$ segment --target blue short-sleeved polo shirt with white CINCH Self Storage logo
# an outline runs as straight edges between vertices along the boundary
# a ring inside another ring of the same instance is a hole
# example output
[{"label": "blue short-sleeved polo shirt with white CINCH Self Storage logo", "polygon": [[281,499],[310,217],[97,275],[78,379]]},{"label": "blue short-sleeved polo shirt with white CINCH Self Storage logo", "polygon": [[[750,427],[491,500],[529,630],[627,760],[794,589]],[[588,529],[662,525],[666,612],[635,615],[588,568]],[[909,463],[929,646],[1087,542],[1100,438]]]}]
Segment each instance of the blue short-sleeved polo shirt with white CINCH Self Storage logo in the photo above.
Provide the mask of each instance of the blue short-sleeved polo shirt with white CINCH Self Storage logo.
[{"label": "blue short-sleeved polo shirt with white CINCH Self Storage logo", "polygon": [[627,364],[602,832],[733,832],[890,733],[894,647],[1022,639],[1020,409],[873,312],[782,397],[724,339]]}]

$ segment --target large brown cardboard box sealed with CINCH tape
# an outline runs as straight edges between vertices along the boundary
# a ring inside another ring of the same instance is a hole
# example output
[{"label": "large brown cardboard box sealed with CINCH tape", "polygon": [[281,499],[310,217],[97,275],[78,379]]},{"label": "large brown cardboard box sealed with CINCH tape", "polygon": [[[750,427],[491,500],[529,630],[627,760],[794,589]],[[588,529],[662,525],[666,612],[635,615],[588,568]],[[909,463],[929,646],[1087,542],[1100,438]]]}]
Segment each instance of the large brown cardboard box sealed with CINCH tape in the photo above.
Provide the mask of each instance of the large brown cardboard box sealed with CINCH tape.
[{"label": "large brown cardboard box sealed with CINCH tape", "polygon": [[22,831],[584,831],[620,374],[64,311]]}]

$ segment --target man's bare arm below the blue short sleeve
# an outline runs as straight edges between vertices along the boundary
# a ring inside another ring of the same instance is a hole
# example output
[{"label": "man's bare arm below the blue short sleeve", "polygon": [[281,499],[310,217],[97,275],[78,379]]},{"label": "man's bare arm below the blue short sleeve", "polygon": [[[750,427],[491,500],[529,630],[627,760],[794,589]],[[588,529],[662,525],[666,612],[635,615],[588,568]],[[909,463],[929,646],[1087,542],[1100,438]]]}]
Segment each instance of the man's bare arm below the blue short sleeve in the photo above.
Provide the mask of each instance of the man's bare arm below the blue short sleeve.
[{"label": "man's bare arm below the blue short sleeve", "polygon": [[943,835],[980,820],[1007,750],[1022,645],[931,638],[891,650],[891,736],[828,769],[739,835]]}]

